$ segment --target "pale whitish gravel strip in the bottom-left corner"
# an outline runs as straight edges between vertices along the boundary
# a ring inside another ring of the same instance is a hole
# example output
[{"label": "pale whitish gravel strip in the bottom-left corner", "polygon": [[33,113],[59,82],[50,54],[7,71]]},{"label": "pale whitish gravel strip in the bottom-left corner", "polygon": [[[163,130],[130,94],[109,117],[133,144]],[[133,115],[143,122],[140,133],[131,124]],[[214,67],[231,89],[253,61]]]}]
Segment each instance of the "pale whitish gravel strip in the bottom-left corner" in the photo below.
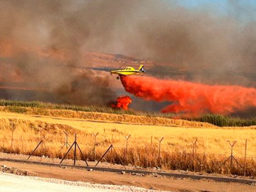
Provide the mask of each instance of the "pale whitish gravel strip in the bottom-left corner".
[{"label": "pale whitish gravel strip in the bottom-left corner", "polygon": [[138,191],[146,192],[139,187],[112,186],[102,184],[90,184],[82,182],[72,182],[39,177],[16,176],[13,174],[0,173],[0,191],[3,192],[120,192]]}]

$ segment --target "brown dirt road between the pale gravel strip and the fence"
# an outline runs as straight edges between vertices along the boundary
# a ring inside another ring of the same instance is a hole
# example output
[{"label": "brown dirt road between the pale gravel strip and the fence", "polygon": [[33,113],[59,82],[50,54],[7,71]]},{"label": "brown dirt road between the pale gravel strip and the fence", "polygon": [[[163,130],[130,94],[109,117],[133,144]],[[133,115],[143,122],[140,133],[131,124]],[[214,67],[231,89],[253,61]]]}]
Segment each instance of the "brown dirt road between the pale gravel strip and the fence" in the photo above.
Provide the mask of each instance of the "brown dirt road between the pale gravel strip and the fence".
[{"label": "brown dirt road between the pale gravel strip and the fence", "polygon": [[[57,178],[69,181],[83,181],[89,183],[136,186],[154,190],[177,192],[255,192],[256,186],[238,183],[220,183],[211,180],[190,180],[154,176],[133,176],[131,174],[117,174],[100,171],[86,171],[79,169],[63,169],[60,167],[41,166],[36,164],[23,164],[1,162],[8,167],[18,167],[27,170],[38,177]],[[0,178],[1,183],[1,178]],[[0,184],[1,186],[1,184]],[[0,188],[0,191],[1,188]],[[70,190],[75,191],[75,190]]]}]

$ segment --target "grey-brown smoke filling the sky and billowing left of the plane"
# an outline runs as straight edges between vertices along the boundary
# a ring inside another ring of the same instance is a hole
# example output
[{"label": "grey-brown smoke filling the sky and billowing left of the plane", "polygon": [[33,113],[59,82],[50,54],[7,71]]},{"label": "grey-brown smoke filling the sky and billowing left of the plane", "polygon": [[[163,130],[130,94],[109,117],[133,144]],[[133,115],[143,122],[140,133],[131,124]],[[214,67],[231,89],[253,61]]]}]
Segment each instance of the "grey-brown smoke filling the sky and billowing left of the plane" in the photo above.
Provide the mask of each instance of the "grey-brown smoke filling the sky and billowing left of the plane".
[{"label": "grey-brown smoke filling the sky and billowing left of the plane", "polygon": [[[256,71],[256,22],[237,18],[247,9],[237,2],[229,1],[230,12],[220,14],[167,0],[0,0],[0,56],[12,58],[15,75],[26,83],[78,104],[116,97],[105,74],[56,67],[81,65],[85,51],[220,74],[251,73]],[[41,49],[56,58],[40,56]]]}]

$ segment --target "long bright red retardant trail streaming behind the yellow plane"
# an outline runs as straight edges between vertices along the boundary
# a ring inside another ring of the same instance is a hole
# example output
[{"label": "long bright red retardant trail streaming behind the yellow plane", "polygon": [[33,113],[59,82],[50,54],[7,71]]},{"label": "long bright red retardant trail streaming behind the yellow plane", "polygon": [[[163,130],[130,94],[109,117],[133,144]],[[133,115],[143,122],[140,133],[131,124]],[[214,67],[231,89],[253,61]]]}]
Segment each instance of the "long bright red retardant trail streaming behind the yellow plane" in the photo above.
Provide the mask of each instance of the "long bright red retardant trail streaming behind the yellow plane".
[{"label": "long bright red retardant trail streaming behind the yellow plane", "polygon": [[181,80],[121,76],[126,92],[145,100],[172,102],[163,113],[229,114],[256,106],[256,89],[242,86],[204,85]]}]

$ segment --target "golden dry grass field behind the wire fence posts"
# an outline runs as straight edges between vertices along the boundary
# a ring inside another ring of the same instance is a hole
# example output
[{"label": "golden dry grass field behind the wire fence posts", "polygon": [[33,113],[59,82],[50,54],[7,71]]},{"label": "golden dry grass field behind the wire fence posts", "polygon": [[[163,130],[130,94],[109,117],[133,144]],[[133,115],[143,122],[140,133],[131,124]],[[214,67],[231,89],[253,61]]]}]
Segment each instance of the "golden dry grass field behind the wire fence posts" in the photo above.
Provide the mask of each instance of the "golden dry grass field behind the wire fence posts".
[{"label": "golden dry grass field behind the wire fence posts", "polygon": [[[107,114],[93,112],[72,112],[70,110],[48,110],[26,108],[24,113],[11,113],[6,107],[0,107],[0,151],[11,150],[11,123],[15,124],[13,153],[30,154],[40,140],[39,130],[44,128],[45,147],[43,154],[50,157],[63,157],[65,134],[69,133],[69,143],[73,135],[78,134],[78,143],[88,160],[99,159],[107,147],[113,143],[121,159],[142,167],[161,166],[166,169],[193,170],[192,150],[197,139],[196,170],[206,173],[229,173],[229,163],[222,169],[221,162],[230,155],[230,142],[236,141],[234,156],[243,165],[244,144],[248,140],[247,175],[256,176],[256,127],[216,127],[208,123],[187,122],[185,120],[165,119],[161,117],[132,116],[128,114]],[[96,137],[96,156],[93,153]],[[125,157],[126,139],[128,143]],[[153,136],[151,143],[151,136]],[[161,142],[158,159],[158,139]],[[112,140],[113,138],[113,140]],[[40,155],[40,150],[36,155]],[[69,157],[72,156],[70,153]],[[80,156],[78,156],[80,158]],[[106,161],[120,163],[117,154],[109,153]],[[234,164],[233,174],[243,174]]]}]

